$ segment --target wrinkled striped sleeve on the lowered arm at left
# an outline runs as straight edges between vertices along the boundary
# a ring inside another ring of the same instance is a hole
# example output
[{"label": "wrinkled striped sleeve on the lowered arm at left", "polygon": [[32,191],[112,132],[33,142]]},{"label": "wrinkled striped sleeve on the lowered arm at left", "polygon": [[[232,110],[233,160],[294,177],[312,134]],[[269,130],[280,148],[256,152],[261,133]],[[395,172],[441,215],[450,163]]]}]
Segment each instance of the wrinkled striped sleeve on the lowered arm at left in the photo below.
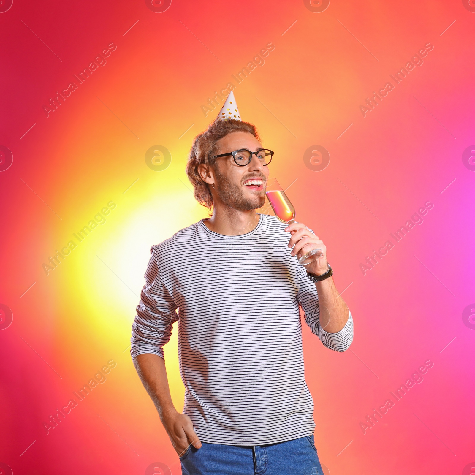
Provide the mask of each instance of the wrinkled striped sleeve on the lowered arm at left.
[{"label": "wrinkled striped sleeve on the lowered arm at left", "polygon": [[152,246],[150,252],[145,285],[132,325],[132,358],[143,353],[153,353],[163,358],[163,345],[170,340],[171,325],[178,320],[175,313],[177,306],[161,280],[156,247]]}]

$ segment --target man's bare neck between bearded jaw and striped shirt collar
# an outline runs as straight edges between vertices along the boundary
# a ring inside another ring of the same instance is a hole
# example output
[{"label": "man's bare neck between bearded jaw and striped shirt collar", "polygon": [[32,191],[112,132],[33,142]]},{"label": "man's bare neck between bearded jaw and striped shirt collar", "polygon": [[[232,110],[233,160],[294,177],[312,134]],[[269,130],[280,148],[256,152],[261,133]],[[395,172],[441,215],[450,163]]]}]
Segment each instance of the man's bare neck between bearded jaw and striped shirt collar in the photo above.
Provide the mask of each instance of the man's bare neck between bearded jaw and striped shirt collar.
[{"label": "man's bare neck between bearded jaw and striped shirt collar", "polygon": [[203,221],[210,231],[224,236],[239,236],[251,232],[259,223],[260,216],[255,209],[241,211],[223,205],[216,203],[211,218]]}]

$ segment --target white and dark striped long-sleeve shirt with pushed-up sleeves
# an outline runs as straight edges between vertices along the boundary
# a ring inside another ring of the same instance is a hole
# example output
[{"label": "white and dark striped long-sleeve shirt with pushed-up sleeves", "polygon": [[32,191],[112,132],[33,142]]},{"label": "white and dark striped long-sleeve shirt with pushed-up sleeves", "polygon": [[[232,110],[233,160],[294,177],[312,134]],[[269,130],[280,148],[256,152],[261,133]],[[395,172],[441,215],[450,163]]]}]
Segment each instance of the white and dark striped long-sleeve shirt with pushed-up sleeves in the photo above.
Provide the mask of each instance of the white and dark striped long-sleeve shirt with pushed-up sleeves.
[{"label": "white and dark striped long-sleeve shirt with pushed-up sleeves", "polygon": [[163,358],[178,320],[183,412],[203,442],[264,445],[314,432],[299,306],[324,346],[343,352],[352,342],[351,313],[338,333],[321,328],[316,287],[290,255],[285,227],[261,214],[251,232],[224,236],[201,220],[152,246],[131,354]]}]

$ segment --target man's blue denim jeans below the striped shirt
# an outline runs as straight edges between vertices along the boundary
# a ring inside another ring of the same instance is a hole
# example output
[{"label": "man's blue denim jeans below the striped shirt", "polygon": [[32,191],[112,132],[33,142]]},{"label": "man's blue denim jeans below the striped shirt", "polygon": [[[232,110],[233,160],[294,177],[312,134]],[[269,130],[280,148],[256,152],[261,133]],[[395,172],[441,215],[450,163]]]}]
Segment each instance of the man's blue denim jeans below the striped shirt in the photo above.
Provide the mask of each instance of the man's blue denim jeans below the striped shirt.
[{"label": "man's blue denim jeans below the striped shirt", "polygon": [[183,475],[323,475],[314,436],[253,447],[202,442],[180,461]]}]

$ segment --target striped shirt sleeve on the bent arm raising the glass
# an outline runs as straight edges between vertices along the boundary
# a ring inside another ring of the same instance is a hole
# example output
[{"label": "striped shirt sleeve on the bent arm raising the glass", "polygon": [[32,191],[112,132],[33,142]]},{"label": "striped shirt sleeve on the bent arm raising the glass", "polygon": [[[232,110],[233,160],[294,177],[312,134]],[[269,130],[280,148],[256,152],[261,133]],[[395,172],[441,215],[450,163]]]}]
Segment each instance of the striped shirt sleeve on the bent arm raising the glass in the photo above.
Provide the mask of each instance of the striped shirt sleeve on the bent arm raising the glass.
[{"label": "striped shirt sleeve on the bent arm raising the glass", "polygon": [[315,284],[307,277],[303,268],[299,274],[300,289],[297,293],[297,301],[304,310],[305,323],[312,333],[318,336],[324,346],[335,352],[344,352],[350,348],[353,341],[352,313],[348,317],[345,326],[337,333],[328,333],[320,326],[320,303]]}]

